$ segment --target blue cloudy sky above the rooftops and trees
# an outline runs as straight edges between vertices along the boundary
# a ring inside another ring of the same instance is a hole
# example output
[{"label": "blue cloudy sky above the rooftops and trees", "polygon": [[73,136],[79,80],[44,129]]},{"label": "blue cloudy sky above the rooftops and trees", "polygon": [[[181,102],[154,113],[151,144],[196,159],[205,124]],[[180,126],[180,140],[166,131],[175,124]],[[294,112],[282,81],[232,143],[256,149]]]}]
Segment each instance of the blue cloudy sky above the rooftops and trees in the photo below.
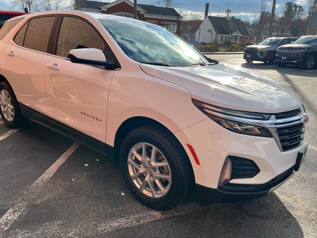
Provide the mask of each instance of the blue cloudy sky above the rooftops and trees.
[{"label": "blue cloudy sky above the rooftops and trees", "polygon": [[[0,0],[0,9],[10,9],[10,2],[12,0]],[[104,2],[112,2],[113,0],[97,0],[97,1],[104,1]],[[133,1],[133,0],[131,0]],[[138,0],[140,4],[151,4],[156,5],[158,0]],[[161,0],[162,1],[162,0]],[[313,0],[288,0],[293,1],[297,4],[306,4],[307,1]],[[228,9],[229,5],[231,4],[231,15],[240,18],[241,20],[249,20],[253,21],[256,14],[260,12],[260,4],[261,0],[174,0],[174,2],[179,2],[182,4],[182,7],[187,12],[201,12],[203,15],[205,14],[205,5],[209,2],[209,12],[213,16],[224,16],[224,12]],[[272,2],[273,0],[266,0],[266,10],[272,10]],[[284,5],[285,0],[277,0],[276,1],[276,9],[275,13],[278,14],[281,9],[282,5]],[[64,0],[64,6],[70,5],[70,0]]]}]

